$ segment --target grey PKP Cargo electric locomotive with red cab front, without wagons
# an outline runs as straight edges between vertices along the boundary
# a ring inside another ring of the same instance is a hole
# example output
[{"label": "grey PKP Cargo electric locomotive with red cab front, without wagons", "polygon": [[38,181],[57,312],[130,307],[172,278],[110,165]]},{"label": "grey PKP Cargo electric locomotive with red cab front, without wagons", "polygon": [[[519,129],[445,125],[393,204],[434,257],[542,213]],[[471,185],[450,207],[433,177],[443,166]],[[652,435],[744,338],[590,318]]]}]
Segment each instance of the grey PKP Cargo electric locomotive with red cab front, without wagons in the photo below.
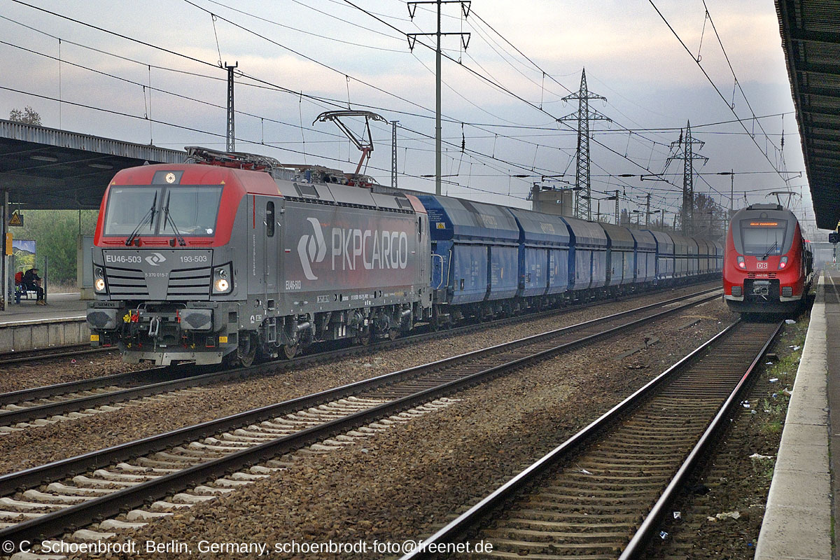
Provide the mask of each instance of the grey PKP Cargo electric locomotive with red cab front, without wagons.
[{"label": "grey PKP Cargo electric locomotive with red cab front, without wagons", "polygon": [[94,343],[134,363],[247,365],[318,341],[394,338],[428,316],[428,217],[416,198],[323,167],[188,152],[196,163],[121,170],[108,186],[87,310]]}]

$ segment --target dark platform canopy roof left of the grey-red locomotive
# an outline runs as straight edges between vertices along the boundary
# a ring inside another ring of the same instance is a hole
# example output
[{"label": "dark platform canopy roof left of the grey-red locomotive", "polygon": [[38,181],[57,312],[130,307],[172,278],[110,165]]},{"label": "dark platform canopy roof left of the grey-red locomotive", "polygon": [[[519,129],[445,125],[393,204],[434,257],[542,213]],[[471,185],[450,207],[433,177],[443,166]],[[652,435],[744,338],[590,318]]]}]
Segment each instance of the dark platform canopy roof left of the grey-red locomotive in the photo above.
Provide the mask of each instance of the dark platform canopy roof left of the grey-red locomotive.
[{"label": "dark platform canopy roof left of the grey-red locomotive", "polygon": [[184,160],[181,150],[0,119],[0,191],[13,208],[97,209],[118,170]]}]

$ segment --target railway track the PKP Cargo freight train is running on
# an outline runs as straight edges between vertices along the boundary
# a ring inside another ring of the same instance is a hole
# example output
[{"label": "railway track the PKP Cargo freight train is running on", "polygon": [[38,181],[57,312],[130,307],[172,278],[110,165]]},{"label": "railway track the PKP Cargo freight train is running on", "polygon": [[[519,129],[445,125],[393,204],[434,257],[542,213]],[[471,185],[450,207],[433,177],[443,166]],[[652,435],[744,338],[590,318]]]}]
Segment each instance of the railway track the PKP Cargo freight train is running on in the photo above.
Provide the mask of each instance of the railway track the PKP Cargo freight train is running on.
[{"label": "railway track the PKP Cargo freight train is running on", "polygon": [[[684,301],[697,295],[711,293],[717,290],[703,290],[699,294],[680,296],[641,309],[656,306],[667,306],[677,301]],[[575,306],[579,310],[584,306]],[[561,311],[562,312],[562,311]],[[557,313],[547,311],[545,315]],[[533,317],[541,317],[537,314]],[[328,363],[333,360],[347,359],[352,355],[372,353],[380,348],[400,348],[425,340],[449,337],[474,332],[488,326],[498,327],[511,322],[521,322],[521,318],[513,317],[494,323],[467,325],[444,332],[426,332],[411,337],[398,338],[393,342],[381,342],[367,347],[342,347],[320,353],[301,356],[288,361],[267,362],[256,364],[248,368],[199,369],[189,364],[170,368],[153,368],[142,371],[113,374],[95,379],[81,379],[67,383],[37,387],[34,389],[18,390],[0,394],[0,437],[32,426],[51,424],[68,419],[91,416],[102,412],[113,411],[113,406],[130,400],[142,399],[154,395],[171,394],[175,391],[189,391],[202,385],[209,385],[239,379],[246,376],[278,374],[289,369],[307,367],[313,364]],[[205,373],[207,372],[207,373]],[[174,378],[174,379],[173,379]]]}]

